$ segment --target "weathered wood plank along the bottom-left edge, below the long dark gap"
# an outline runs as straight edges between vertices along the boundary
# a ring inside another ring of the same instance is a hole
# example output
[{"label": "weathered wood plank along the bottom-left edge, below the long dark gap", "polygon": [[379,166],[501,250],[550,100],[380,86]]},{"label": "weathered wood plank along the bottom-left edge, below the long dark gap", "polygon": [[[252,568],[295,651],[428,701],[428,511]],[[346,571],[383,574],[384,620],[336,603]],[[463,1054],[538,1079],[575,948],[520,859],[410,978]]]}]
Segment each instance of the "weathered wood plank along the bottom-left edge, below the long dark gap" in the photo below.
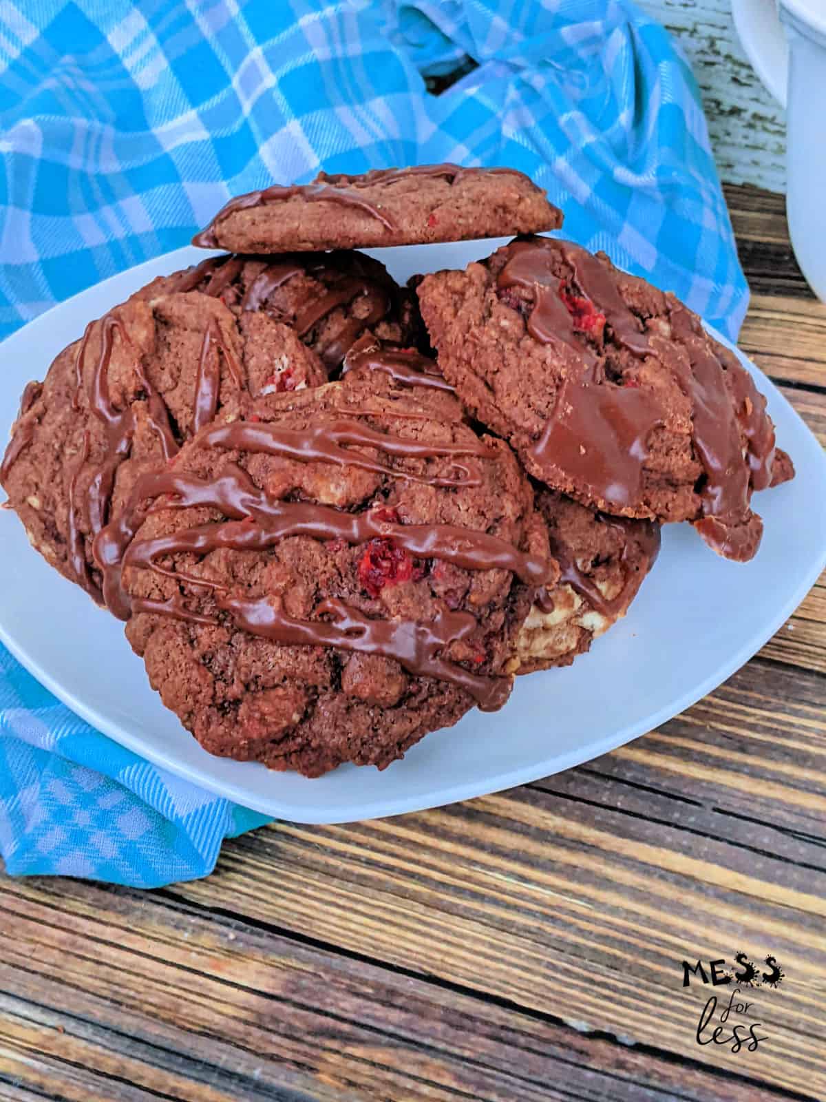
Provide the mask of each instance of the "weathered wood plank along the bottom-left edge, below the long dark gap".
[{"label": "weathered wood plank along the bottom-left edge, below the long dark gap", "polygon": [[694,1063],[171,897],[0,879],[0,1098],[12,1077],[78,1102],[719,1098]]}]

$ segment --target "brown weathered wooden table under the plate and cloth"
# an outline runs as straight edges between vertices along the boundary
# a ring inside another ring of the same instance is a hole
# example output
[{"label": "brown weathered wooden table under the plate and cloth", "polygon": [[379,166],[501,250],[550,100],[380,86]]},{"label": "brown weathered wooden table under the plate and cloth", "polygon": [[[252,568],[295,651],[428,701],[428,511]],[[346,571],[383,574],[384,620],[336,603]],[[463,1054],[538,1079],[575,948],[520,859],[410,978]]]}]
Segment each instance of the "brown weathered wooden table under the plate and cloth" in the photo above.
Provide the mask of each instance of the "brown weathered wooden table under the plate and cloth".
[{"label": "brown weathered wooden table under the plate and cloth", "polygon": [[[782,198],[728,199],[742,345],[824,440],[826,307]],[[824,704],[822,579],[721,689],[579,769],[281,823],[161,892],[0,877],[0,1099],[824,1099]],[[738,950],[786,973],[748,995],[753,1052],[698,1045],[710,988],[682,986]]]}]

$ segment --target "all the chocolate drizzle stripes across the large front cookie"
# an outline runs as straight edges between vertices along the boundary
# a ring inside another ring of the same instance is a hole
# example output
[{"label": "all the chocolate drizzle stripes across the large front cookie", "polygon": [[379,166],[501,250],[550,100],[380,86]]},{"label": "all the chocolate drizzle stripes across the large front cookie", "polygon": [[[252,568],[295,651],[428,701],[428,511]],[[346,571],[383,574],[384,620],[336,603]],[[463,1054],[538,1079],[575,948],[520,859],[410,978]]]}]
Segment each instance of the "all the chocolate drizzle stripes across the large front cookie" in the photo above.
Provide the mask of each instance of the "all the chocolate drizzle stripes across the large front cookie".
[{"label": "all the chocolate drizzle stripes across the large front cookie", "polygon": [[[302,461],[351,465],[358,453],[345,445],[363,444],[400,457],[433,457],[486,454],[481,444],[455,445],[424,443],[391,436],[357,421],[336,420],[328,426],[306,432],[281,429],[273,424],[236,422],[204,430],[199,446],[240,449],[248,452],[290,455]],[[392,472],[368,461],[367,469]],[[439,478],[422,479],[443,485]],[[225,519],[169,534],[135,540],[140,525],[153,509],[207,507],[219,510]],[[399,661],[410,672],[458,685],[470,693],[482,709],[499,707],[510,691],[510,680],[471,673],[439,657],[453,642],[478,629],[478,620],[468,613],[439,612],[433,622],[370,619],[338,599],[325,601],[316,608],[322,617],[298,620],[264,597],[248,599],[227,593],[227,586],[205,575],[172,570],[159,560],[167,555],[207,555],[218,549],[262,551],[287,537],[303,536],[317,540],[344,540],[361,545],[373,538],[385,538],[419,559],[443,559],[465,570],[509,570],[533,587],[545,584],[553,569],[547,560],[521,552],[509,542],[486,532],[450,525],[402,525],[387,519],[387,510],[377,508],[349,514],[312,503],[282,501],[270,498],[250,476],[233,463],[211,479],[161,471],[142,476],[130,501],[95,540],[95,558],[104,574],[104,592],[110,609],[126,619],[133,612],[153,612],[198,624],[216,623],[189,612],[183,598],[165,602],[132,601],[122,587],[127,566],[152,570],[177,583],[206,587],[214,592],[217,607],[228,613],[238,627],[286,645],[333,646],[345,650],[381,655]],[[328,623],[325,617],[332,617]]]}]

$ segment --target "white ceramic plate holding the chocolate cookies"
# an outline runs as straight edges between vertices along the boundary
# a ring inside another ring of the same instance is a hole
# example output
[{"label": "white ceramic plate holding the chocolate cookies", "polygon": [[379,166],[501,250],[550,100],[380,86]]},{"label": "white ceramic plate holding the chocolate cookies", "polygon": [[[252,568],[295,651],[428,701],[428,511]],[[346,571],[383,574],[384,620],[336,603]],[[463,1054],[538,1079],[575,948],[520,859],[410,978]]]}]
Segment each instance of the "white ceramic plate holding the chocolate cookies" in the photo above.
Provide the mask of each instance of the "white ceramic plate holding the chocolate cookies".
[{"label": "white ceramic plate holding the chocolate cookies", "polygon": [[[396,279],[464,267],[498,242],[377,251]],[[56,306],[0,345],[0,432],[32,376],[154,276],[204,253],[181,249]],[[56,696],[157,765],[247,807],[297,822],[347,822],[421,810],[536,780],[605,754],[705,695],[778,630],[826,564],[826,458],[780,392],[752,365],[797,477],[759,495],[765,519],[748,565],[718,559],[687,525],[663,549],[627,618],[566,670],[519,678],[501,712],[471,712],[427,735],[384,773],[344,766],[318,780],[208,755],[161,704],[122,625],[29,547],[0,512],[0,638]]]}]

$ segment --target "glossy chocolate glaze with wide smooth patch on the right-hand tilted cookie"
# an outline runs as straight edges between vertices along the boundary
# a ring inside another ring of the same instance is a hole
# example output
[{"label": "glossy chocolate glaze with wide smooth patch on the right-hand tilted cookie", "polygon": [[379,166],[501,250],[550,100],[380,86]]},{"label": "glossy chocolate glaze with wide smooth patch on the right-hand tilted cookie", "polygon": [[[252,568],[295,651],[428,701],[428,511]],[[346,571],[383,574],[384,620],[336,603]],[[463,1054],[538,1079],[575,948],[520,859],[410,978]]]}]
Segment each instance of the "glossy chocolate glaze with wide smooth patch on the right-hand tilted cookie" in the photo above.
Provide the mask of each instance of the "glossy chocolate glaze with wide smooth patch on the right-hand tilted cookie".
[{"label": "glossy chocolate glaze with wide smooth patch on the right-hand tilted cookie", "polygon": [[[537,463],[558,465],[618,508],[633,505],[640,498],[650,433],[663,420],[649,390],[605,380],[595,348],[577,333],[562,302],[559,292],[570,279],[605,316],[616,344],[640,359],[657,356],[691,398],[693,443],[706,474],[700,490],[704,517],[696,527],[727,558],[751,558],[753,532],[749,533],[746,523],[751,490],[771,484],[774,454],[765,399],[751,376],[733,357],[724,368],[693,315],[673,300],[672,335],[687,352],[686,368],[666,338],[642,332],[610,271],[569,241],[530,237],[508,246],[507,256],[498,285],[532,291],[533,306],[526,322],[531,335],[542,343],[568,345],[586,365],[578,376],[568,372],[565,377],[551,420],[533,446]],[[559,271],[572,276],[562,279],[555,274]],[[740,430],[748,441],[748,465]]]}]

